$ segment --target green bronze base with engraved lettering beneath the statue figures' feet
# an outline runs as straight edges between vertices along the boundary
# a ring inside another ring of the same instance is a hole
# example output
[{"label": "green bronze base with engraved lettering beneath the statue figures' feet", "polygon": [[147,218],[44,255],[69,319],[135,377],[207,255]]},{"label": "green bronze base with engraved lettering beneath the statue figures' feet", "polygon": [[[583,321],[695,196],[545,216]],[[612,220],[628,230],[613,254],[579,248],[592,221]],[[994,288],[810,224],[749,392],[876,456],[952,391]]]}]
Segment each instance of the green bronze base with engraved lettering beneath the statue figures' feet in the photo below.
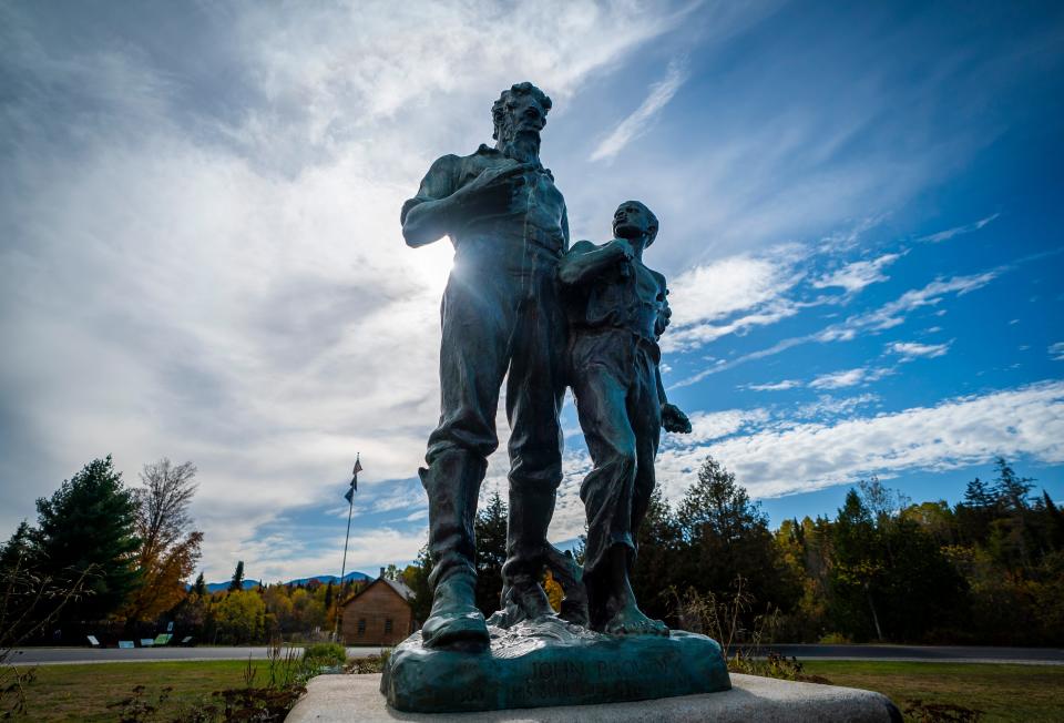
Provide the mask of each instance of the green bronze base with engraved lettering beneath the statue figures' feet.
[{"label": "green bronze base with engraved lettering beneath the statue figures' feet", "polygon": [[732,688],[716,641],[683,631],[604,635],[557,618],[489,627],[482,653],[430,650],[415,633],[391,654],[381,693],[411,713],[589,705]]}]

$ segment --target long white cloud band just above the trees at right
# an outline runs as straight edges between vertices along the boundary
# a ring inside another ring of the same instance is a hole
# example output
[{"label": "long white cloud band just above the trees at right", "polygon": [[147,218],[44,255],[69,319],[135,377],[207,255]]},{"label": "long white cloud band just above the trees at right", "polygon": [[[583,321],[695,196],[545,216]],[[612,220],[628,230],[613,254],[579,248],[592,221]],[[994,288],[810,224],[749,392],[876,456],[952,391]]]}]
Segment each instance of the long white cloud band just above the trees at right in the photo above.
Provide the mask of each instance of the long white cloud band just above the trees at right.
[{"label": "long white cloud band just above the trees at right", "polygon": [[[674,438],[677,439],[677,438]],[[944,400],[836,424],[780,425],[710,445],[673,446],[658,479],[678,497],[709,454],[754,497],[775,497],[923,469],[943,471],[995,455],[1064,462],[1064,381]]]}]

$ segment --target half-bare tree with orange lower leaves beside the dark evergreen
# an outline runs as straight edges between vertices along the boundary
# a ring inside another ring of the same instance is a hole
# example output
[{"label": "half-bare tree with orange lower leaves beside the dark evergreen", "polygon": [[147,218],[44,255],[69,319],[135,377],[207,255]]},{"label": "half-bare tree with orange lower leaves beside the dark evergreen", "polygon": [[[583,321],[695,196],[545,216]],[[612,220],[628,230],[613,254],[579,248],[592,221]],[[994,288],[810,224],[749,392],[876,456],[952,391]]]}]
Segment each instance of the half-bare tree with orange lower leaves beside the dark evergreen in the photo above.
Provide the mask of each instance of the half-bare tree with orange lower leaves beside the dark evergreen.
[{"label": "half-bare tree with orange lower leaves beside the dark evergreen", "polygon": [[200,560],[203,532],[193,529],[188,507],[196,492],[196,467],[173,465],[163,458],[144,466],[142,486],[133,490],[136,503],[136,553],[142,585],[126,610],[131,621],[154,620],[185,595],[184,581]]}]

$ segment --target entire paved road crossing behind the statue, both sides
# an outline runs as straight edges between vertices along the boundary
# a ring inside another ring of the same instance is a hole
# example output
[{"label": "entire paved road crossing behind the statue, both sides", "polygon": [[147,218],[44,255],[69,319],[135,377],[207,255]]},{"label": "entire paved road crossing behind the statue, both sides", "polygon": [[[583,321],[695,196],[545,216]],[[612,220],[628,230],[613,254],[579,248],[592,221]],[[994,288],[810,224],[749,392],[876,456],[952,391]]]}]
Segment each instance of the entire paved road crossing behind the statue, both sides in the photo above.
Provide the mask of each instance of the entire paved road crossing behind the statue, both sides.
[{"label": "entire paved road crossing behind the statue, both sides", "polygon": [[[951,645],[770,645],[770,650],[798,660],[897,660],[962,663],[1027,663],[1064,665],[1064,650],[1056,648],[982,648]],[[348,648],[348,656],[379,654],[380,648]],[[117,663],[166,660],[265,660],[266,648],[27,648],[12,662],[22,664]]]}]

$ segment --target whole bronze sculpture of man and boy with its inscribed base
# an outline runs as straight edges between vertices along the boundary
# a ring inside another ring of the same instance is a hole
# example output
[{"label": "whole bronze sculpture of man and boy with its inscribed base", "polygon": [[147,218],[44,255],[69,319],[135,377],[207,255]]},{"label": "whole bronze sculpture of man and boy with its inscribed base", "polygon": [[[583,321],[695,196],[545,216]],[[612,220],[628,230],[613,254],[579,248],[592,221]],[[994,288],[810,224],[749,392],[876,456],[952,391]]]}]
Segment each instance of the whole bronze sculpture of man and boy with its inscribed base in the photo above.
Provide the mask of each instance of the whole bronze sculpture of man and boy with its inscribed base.
[{"label": "whole bronze sculpture of man and boy with its inscribed base", "polygon": [[[621,204],[615,238],[569,250],[565,201],[539,161],[550,99],[531,83],[492,108],[495,147],[432,164],[403,204],[413,247],[444,235],[454,266],[441,306],[440,422],[419,470],[429,497],[432,610],[381,678],[402,711],[457,712],[644,700],[730,688],[720,646],[669,632],[638,608],[635,539],[654,489],[661,429],[690,431],[668,404],[658,337],[665,278],[643,264],[658,222]],[[501,609],[475,607],[473,520],[498,446],[507,379],[510,519]],[[546,540],[562,476],[559,413],[573,388],[594,469],[581,487],[585,568]],[[544,567],[565,590],[554,614]]]}]

